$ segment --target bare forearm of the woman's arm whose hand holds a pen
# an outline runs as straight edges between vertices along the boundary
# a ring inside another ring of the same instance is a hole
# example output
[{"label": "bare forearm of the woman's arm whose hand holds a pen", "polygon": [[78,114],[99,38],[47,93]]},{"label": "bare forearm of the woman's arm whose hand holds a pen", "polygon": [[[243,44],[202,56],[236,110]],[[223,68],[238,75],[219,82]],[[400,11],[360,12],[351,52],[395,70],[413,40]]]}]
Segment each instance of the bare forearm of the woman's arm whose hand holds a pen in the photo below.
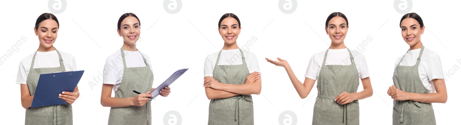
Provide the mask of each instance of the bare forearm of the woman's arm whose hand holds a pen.
[{"label": "bare forearm of the woman's arm whose hand holds a pen", "polygon": [[103,107],[127,107],[133,106],[133,97],[128,98],[115,98],[115,97],[102,97],[101,105]]}]

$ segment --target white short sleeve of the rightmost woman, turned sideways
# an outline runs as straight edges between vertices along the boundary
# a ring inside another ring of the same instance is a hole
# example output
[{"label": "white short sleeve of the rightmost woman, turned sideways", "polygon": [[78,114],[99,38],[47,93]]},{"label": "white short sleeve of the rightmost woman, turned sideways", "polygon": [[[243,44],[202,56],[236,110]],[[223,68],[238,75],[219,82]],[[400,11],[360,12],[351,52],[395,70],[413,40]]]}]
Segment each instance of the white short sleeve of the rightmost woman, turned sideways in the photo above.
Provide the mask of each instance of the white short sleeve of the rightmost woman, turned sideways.
[{"label": "white short sleeve of the rightmost woman, turned sideways", "polygon": [[437,53],[431,54],[429,60],[427,62],[427,69],[426,69],[427,77],[429,77],[429,81],[432,79],[444,79],[443,77],[443,70],[442,70],[442,60]]}]

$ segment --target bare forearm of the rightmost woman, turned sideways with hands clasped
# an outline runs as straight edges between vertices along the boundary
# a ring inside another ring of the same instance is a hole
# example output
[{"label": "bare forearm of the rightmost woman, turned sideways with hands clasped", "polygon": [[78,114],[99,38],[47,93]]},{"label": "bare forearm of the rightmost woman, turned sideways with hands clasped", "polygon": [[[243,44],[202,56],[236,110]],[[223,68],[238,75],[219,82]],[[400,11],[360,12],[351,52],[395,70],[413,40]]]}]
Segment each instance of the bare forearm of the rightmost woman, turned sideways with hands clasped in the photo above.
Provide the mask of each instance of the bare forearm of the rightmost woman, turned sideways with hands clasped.
[{"label": "bare forearm of the rightmost woman, turned sideways with hands clasped", "polygon": [[420,94],[420,93],[408,93],[409,100],[425,102],[425,103],[445,103],[447,101],[447,96],[444,96],[442,93],[431,93],[431,94]]}]

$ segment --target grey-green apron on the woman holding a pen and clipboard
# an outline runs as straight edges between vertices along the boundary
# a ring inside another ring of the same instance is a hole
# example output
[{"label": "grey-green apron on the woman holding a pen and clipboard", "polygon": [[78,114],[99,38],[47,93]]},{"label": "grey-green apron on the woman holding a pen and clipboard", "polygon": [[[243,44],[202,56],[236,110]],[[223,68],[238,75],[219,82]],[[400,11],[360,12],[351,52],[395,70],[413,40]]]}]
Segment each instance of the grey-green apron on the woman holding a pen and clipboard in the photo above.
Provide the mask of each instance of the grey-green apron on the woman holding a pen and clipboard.
[{"label": "grey-green apron on the woman holding a pen and clipboard", "polygon": [[[146,58],[144,58],[141,54],[146,66],[127,68],[123,48],[120,48],[120,53],[122,54],[123,60],[123,77],[122,83],[120,83],[117,91],[115,91],[115,97],[128,98],[138,95],[134,93],[133,90],[141,93],[150,91],[152,88],[152,82],[154,81],[154,74],[150,70],[150,66]],[[108,125],[151,125],[152,110],[150,102],[151,101],[148,101],[142,107],[111,107]]]}]

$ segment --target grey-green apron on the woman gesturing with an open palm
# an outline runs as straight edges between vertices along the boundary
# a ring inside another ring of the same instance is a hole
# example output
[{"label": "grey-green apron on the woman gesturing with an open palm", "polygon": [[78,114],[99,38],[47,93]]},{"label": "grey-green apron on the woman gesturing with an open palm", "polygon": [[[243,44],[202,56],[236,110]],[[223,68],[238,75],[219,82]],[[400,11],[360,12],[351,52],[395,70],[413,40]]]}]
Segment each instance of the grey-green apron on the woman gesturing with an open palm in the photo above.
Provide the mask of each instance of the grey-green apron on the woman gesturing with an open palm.
[{"label": "grey-green apron on the woman gesturing with an open palm", "polygon": [[335,97],[343,92],[355,93],[359,87],[359,72],[349,51],[351,65],[325,65],[328,50],[323,58],[317,81],[312,125],[359,125],[359,102],[338,104]]}]

